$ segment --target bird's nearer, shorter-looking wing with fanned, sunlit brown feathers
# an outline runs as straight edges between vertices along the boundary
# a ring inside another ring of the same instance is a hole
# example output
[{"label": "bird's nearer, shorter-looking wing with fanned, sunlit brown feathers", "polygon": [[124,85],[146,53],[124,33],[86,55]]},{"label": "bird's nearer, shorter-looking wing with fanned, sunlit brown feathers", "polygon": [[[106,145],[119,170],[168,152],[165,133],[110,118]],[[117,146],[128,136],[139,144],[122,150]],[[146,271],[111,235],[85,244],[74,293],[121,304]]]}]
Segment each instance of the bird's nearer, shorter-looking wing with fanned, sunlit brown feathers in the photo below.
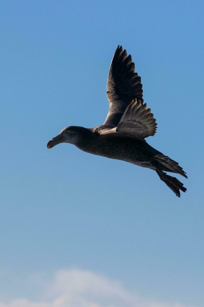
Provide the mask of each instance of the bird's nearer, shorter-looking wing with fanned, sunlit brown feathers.
[{"label": "bird's nearer, shorter-looking wing with fanned, sunlit brown feathers", "polygon": [[115,133],[115,136],[125,136],[144,140],[156,133],[157,123],[147,104],[133,99],[123,113],[117,127],[101,130],[100,134]]}]

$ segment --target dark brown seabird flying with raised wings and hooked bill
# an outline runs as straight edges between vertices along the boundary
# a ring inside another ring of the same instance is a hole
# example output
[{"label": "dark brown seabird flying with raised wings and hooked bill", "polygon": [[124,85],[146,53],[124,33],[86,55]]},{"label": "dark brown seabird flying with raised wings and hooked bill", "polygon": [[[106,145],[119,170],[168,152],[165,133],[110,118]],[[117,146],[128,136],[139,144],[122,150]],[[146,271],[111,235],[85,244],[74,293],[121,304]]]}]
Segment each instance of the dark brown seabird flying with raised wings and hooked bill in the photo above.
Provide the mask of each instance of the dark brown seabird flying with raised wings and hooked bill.
[{"label": "dark brown seabird flying with raised wings and hooked bill", "polygon": [[123,160],[153,169],[159,178],[178,196],[186,188],[166,172],[187,178],[177,162],[151,147],[145,140],[156,133],[157,123],[151,109],[142,99],[141,78],[135,72],[131,55],[117,47],[108,72],[107,98],[109,111],[103,125],[84,128],[69,126],[51,141],[47,148],[70,143],[95,155]]}]

